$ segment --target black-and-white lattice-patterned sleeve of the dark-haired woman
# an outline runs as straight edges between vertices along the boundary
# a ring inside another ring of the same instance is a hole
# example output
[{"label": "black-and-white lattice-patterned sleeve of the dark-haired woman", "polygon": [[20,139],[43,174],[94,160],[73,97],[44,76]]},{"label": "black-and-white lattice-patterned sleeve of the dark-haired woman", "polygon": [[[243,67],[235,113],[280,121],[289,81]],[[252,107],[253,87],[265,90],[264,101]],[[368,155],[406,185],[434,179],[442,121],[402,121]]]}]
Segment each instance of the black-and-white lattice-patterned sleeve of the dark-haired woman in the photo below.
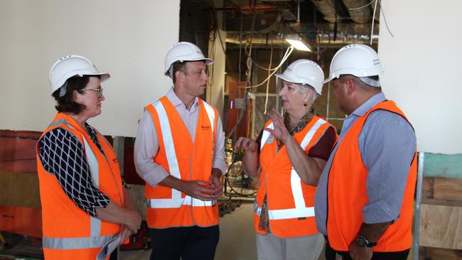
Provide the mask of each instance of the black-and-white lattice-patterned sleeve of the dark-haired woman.
[{"label": "black-and-white lattice-patterned sleeve of the dark-haired woman", "polygon": [[109,197],[95,188],[82,143],[69,131],[48,131],[39,143],[43,168],[58,179],[61,188],[77,207],[96,217],[97,207],[107,207]]}]

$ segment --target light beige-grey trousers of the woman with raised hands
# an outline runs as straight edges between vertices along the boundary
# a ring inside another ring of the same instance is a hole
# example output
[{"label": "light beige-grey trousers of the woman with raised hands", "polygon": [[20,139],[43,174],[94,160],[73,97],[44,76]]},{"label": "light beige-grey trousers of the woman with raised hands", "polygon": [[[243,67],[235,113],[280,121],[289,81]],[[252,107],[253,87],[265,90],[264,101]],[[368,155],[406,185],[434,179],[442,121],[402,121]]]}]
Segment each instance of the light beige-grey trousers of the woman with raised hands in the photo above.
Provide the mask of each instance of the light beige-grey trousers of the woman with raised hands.
[{"label": "light beige-grey trousers of the woman with raised hands", "polygon": [[259,260],[318,260],[324,246],[321,234],[291,238],[276,237],[271,233],[255,235]]}]

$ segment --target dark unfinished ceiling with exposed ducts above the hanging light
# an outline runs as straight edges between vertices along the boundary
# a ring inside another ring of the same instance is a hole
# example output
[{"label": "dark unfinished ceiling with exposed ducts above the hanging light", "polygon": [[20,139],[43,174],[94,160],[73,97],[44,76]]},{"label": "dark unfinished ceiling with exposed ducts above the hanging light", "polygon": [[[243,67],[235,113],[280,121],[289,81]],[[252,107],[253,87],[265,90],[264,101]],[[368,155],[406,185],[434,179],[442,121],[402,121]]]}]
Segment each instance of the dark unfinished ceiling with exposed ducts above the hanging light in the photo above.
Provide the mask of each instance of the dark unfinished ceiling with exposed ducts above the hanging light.
[{"label": "dark unfinished ceiling with exposed ducts above the hanging light", "polygon": [[245,43],[252,34],[255,48],[282,47],[284,36],[293,33],[321,48],[370,43],[371,35],[372,43],[378,40],[378,0],[226,0],[217,10],[224,13],[227,43]]}]

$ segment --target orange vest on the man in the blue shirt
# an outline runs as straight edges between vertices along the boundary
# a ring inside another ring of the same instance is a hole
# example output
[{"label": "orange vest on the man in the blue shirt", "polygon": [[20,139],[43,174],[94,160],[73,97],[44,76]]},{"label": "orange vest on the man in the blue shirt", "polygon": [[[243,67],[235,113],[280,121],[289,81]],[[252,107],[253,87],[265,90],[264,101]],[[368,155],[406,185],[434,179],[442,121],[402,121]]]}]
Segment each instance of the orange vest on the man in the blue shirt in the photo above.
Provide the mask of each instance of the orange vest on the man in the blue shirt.
[{"label": "orange vest on the man in the blue shirt", "polygon": [[[358,138],[369,114],[378,109],[399,114],[406,119],[394,102],[380,102],[355,121],[333,157],[328,178],[327,233],[329,244],[337,251],[348,251],[348,246],[358,237],[363,222],[362,208],[368,200],[367,168],[361,158]],[[409,175],[399,218],[387,228],[373,248],[374,251],[403,251],[411,247],[412,203],[417,178],[416,155],[412,163],[409,163]]]}]

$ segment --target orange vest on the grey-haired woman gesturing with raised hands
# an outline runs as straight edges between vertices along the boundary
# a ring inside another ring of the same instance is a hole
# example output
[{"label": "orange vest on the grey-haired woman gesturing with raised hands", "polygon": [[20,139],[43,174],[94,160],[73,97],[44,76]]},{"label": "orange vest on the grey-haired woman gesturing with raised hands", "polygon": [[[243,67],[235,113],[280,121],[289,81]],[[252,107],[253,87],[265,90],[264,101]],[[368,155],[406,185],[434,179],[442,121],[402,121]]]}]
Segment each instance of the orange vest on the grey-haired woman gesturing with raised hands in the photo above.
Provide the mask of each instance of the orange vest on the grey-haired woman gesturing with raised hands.
[{"label": "orange vest on the grey-haired woman gesturing with raised hands", "polygon": [[[294,139],[303,151],[308,152],[324,135],[328,122],[319,117],[313,119],[302,131],[294,134]],[[272,121],[264,128],[273,129]],[[333,127],[333,126],[332,126]],[[286,146],[277,151],[277,142],[269,131],[264,130],[260,143],[260,187],[254,204],[254,229],[259,229],[264,196],[267,195],[269,229],[276,237],[303,237],[317,234],[314,218],[314,194],[316,187],[301,182],[292,167]]]}]

